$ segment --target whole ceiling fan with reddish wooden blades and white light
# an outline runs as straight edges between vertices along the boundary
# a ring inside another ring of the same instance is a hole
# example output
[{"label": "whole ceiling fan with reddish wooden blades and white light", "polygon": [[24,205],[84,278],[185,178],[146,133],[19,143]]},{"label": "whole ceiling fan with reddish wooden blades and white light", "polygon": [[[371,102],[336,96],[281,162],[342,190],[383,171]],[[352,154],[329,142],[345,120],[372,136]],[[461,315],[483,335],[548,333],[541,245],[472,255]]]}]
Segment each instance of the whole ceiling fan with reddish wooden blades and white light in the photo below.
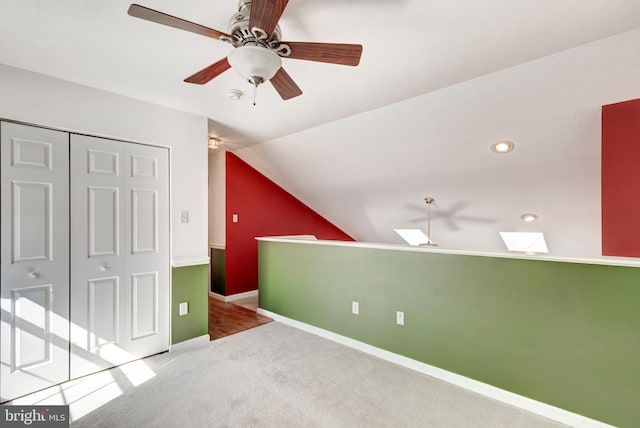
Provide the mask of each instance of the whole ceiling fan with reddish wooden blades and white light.
[{"label": "whole ceiling fan with reddish wooden blades and white light", "polygon": [[281,58],[350,66],[360,63],[362,45],[281,41],[278,21],[287,3],[288,0],[240,0],[238,12],[229,21],[228,33],[138,4],[132,4],[127,13],[136,18],[231,44],[234,49],[226,58],[187,77],[184,81],[202,85],[233,68],[254,86],[255,104],[255,89],[267,80],[283,100],[302,95],[302,90],[282,67]]}]

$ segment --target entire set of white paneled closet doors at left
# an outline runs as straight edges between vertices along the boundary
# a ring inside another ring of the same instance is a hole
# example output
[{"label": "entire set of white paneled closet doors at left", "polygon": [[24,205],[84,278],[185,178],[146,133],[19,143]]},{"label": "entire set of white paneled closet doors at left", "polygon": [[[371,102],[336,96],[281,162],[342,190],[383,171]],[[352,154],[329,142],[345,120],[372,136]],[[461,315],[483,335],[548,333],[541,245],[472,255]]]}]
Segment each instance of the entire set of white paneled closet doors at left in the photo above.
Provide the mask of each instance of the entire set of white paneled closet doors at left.
[{"label": "entire set of white paneled closet doors at left", "polygon": [[168,150],[0,126],[1,401],[167,350]]}]

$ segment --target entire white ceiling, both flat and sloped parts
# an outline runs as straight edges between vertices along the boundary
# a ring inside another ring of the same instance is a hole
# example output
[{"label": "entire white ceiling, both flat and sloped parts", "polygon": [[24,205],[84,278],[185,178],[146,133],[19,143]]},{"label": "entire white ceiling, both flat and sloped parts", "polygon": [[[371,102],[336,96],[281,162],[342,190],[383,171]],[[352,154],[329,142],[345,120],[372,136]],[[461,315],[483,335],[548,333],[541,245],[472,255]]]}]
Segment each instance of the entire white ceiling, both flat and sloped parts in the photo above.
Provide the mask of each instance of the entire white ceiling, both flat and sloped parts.
[{"label": "entire white ceiling, both flat and sloped parts", "polygon": [[[501,251],[497,232],[522,229],[545,232],[554,254],[599,255],[599,108],[640,96],[637,0],[292,0],[283,39],[360,43],[362,61],[285,59],[304,94],[282,101],[264,85],[255,107],[232,70],[182,82],[229,45],[132,18],[129,3],[3,0],[0,63],[206,116],[211,135],[247,146],[243,159],[359,240],[424,228],[433,196],[445,248]],[[237,10],[140,4],[222,31]],[[516,150],[492,154],[503,138]],[[530,211],[540,221],[524,225]]]}]

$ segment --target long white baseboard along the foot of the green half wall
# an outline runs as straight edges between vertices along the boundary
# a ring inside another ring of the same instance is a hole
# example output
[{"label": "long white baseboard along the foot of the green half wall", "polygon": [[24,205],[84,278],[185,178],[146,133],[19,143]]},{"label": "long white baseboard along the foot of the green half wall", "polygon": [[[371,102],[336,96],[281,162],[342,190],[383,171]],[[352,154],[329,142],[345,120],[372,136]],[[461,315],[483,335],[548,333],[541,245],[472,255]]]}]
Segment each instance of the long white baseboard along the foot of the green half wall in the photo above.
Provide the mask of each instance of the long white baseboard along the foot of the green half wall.
[{"label": "long white baseboard along the foot of the green half wall", "polygon": [[403,355],[385,351],[384,349],[371,346],[367,343],[360,342],[355,339],[351,339],[350,337],[342,336],[340,334],[333,333],[331,331],[324,330],[310,324],[296,321],[294,319],[278,315],[265,309],[258,308],[258,313],[268,316],[274,321],[279,321],[291,327],[295,327],[308,333],[324,337],[325,339],[338,342],[340,344],[349,346],[350,348],[365,352],[369,355],[373,355],[391,363],[398,364],[411,370],[415,370],[422,374],[426,374],[436,379],[443,380],[450,384],[476,392],[489,398],[493,398],[494,400],[502,401],[503,403],[510,404],[512,406],[527,410],[531,413],[538,414],[545,418],[552,419],[571,427],[615,428],[612,425],[606,424],[604,422],[600,422],[595,419],[579,415],[577,413],[569,412],[568,410],[560,409],[558,407],[551,406],[550,404],[542,403],[540,401],[536,401],[531,398],[524,397],[522,395],[518,395],[513,392],[506,391],[504,389],[500,389],[495,386],[488,385],[486,383],[479,382],[477,380],[461,376],[459,374],[443,370],[441,368],[431,366],[417,360],[413,360],[411,358],[407,358]]}]

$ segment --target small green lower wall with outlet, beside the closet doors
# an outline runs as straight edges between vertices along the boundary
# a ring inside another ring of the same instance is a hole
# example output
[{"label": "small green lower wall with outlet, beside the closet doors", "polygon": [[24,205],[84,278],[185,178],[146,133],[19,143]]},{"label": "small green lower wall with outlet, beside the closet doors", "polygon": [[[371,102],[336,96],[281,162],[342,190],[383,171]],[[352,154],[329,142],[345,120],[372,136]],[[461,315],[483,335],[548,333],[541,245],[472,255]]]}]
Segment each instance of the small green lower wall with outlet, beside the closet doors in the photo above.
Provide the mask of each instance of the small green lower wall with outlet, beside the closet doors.
[{"label": "small green lower wall with outlet, beside the closet doors", "polygon": [[[209,265],[174,267],[171,273],[171,343],[176,344],[209,332]],[[189,313],[180,316],[180,303]]]}]

